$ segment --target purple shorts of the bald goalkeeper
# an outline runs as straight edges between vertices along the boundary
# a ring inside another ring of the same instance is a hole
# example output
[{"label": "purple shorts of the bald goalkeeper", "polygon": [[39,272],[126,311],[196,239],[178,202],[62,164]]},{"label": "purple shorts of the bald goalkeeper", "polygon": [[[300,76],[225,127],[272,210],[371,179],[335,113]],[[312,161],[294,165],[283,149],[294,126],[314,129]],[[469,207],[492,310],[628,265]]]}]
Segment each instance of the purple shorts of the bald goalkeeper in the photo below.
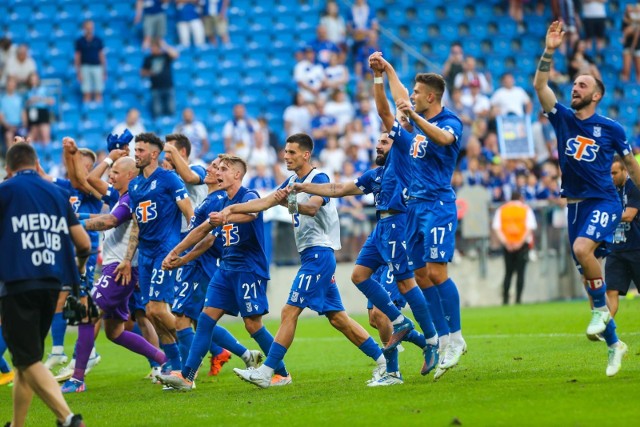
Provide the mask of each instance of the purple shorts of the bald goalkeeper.
[{"label": "purple shorts of the bald goalkeeper", "polygon": [[123,286],[116,282],[115,269],[117,262],[102,267],[102,276],[91,289],[91,297],[100,310],[104,312],[105,319],[129,319],[129,297],[138,283],[138,269],[131,269],[131,282]]}]

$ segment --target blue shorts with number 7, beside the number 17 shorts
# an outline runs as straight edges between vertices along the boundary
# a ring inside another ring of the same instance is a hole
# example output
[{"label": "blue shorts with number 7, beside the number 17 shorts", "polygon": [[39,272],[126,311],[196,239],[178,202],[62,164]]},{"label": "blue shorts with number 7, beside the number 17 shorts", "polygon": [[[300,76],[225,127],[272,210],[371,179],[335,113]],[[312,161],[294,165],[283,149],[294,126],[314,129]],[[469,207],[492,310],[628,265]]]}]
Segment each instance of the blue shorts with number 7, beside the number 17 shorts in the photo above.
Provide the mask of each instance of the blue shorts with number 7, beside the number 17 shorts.
[{"label": "blue shorts with number 7, beside the number 17 shorts", "polygon": [[373,271],[386,265],[396,280],[413,277],[405,250],[406,228],[406,214],[396,214],[378,221],[360,250],[356,264]]}]

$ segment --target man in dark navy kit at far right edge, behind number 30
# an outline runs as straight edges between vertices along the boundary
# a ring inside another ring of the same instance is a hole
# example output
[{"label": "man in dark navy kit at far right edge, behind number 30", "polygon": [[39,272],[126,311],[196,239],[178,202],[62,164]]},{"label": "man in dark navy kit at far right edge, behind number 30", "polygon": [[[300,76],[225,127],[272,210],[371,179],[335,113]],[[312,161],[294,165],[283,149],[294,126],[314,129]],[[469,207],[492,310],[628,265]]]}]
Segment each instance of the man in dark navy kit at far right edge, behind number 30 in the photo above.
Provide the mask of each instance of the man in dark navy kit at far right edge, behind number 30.
[{"label": "man in dark navy kit at far right edge, behind number 30", "polygon": [[629,179],[627,168],[618,156],[613,159],[611,177],[622,202],[622,217],[604,265],[609,311],[614,317],[618,312],[618,298],[627,294],[631,282],[636,289],[640,288],[640,191]]}]

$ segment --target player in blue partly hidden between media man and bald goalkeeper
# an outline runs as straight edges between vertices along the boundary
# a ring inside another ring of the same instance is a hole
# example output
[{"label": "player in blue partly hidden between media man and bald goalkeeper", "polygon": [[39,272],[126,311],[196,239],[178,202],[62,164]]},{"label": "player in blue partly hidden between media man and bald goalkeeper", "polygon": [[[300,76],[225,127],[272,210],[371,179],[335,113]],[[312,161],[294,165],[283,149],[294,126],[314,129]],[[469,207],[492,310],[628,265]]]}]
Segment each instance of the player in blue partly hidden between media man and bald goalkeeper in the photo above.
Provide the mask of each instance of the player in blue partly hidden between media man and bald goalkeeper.
[{"label": "player in blue partly hidden between media man and bald goalkeeper", "polygon": [[[74,212],[79,218],[87,218],[91,214],[98,214],[102,210],[102,201],[100,197],[96,197],[96,194],[90,186],[83,185],[78,179],[80,169],[84,169],[87,172],[91,170],[95,161],[96,155],[93,151],[81,148],[79,149],[72,138],[65,137],[62,141],[64,163],[67,166],[69,179],[53,179],[52,182],[71,193],[69,197],[69,203],[73,207]],[[81,292],[85,293],[88,289],[91,289],[93,284],[93,276],[95,266],[98,261],[98,246],[100,244],[100,236],[98,232],[91,231],[88,233],[91,239],[91,256],[87,260],[84,271],[81,271],[82,286]],[[53,347],[51,353],[47,356],[45,366],[49,369],[53,369],[60,364],[67,362],[68,358],[64,354],[64,336],[67,329],[67,321],[62,317],[62,307],[67,299],[68,293],[60,292],[58,297],[58,304],[56,306],[56,313],[53,316],[53,322],[51,325],[51,338]],[[86,293],[85,293],[86,295]],[[89,362],[89,369],[100,362],[100,356],[96,353],[95,348],[91,349],[91,360]],[[71,366],[74,365],[73,360],[68,366],[60,369],[56,378],[58,380],[64,380],[68,374],[71,373]]]}]

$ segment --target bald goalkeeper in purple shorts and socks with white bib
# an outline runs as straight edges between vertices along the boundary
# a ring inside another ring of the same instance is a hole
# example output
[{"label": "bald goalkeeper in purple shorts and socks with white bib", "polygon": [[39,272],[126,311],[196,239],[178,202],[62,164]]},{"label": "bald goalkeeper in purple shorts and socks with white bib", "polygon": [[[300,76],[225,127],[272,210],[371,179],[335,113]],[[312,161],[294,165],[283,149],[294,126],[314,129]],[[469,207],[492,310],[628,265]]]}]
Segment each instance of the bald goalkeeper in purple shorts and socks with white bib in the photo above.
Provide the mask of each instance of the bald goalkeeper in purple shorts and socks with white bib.
[{"label": "bald goalkeeper in purple shorts and socks with white bib", "polygon": [[[117,203],[110,213],[92,216],[89,219],[81,220],[80,223],[87,230],[104,231],[102,276],[94,283],[91,297],[103,313],[107,338],[162,365],[167,361],[164,353],[143,337],[128,332],[124,328],[124,323],[129,319],[129,298],[138,282],[137,258],[134,257],[132,260],[131,281],[125,285],[115,280],[115,269],[127,252],[129,235],[133,227],[128,189],[129,182],[137,175],[135,160],[130,157],[121,157],[116,160],[109,172],[111,185],[107,186],[106,183],[103,183],[104,185],[94,183],[94,185],[100,187],[96,190],[106,196],[120,195]],[[105,188],[106,191],[104,191]],[[92,321],[96,320],[97,318],[89,319],[85,323],[90,327],[83,328],[85,324],[80,325],[76,346],[76,364],[72,377],[62,385],[63,393],[77,393],[86,390],[84,376],[89,353],[95,341]],[[84,333],[84,329],[86,329],[86,333]]]}]

